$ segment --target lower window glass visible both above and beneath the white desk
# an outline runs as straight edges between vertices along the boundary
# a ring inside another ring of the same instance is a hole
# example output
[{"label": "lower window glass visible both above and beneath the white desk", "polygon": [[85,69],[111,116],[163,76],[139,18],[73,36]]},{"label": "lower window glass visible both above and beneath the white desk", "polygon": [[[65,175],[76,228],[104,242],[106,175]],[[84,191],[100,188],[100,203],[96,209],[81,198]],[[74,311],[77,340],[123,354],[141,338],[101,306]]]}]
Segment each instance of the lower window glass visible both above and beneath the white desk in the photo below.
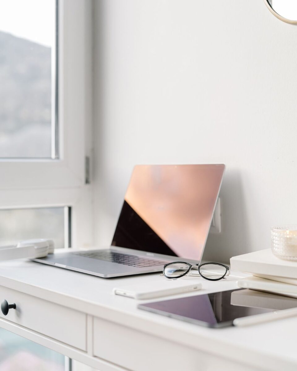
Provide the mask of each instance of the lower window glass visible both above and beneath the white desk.
[{"label": "lower window glass visible both above and beneath the white desk", "polygon": [[[48,238],[61,249],[69,214],[68,207],[0,210],[0,245]],[[64,355],[0,328],[0,371],[65,371],[65,362]]]}]

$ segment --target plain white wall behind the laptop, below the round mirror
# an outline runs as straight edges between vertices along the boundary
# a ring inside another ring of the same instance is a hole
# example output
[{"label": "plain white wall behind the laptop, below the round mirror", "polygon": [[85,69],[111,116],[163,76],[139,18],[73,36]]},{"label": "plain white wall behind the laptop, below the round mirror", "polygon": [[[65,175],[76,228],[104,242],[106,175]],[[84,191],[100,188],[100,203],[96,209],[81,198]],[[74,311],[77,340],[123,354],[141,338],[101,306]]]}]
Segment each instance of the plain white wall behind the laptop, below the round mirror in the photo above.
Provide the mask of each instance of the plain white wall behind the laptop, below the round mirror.
[{"label": "plain white wall behind the laptop, below the round mirror", "polygon": [[297,27],[262,0],[95,0],[95,239],[134,164],[225,163],[209,259],[297,223]]}]

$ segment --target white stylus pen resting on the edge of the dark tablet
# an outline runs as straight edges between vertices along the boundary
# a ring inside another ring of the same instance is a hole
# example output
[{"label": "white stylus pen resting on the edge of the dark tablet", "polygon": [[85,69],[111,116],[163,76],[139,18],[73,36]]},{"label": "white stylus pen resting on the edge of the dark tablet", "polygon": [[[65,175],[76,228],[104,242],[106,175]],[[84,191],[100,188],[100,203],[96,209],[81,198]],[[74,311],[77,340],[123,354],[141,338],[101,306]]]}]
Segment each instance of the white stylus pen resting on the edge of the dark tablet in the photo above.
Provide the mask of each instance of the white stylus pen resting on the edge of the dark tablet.
[{"label": "white stylus pen resting on the edge of the dark tablet", "polygon": [[233,321],[233,325],[234,326],[256,325],[263,322],[276,321],[277,319],[294,316],[297,316],[297,308],[282,309],[280,311],[273,311],[269,313],[261,313],[248,317],[236,318]]}]

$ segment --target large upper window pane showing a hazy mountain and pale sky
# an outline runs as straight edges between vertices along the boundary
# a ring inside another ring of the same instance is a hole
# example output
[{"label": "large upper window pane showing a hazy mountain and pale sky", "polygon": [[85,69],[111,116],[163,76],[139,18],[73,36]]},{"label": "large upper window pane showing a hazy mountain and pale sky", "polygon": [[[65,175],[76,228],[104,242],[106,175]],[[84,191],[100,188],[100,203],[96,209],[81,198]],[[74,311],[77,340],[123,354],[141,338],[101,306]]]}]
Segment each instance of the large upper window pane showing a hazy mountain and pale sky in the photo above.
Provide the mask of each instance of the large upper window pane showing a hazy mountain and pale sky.
[{"label": "large upper window pane showing a hazy mountain and pale sky", "polygon": [[56,158],[56,1],[0,9],[0,157]]}]

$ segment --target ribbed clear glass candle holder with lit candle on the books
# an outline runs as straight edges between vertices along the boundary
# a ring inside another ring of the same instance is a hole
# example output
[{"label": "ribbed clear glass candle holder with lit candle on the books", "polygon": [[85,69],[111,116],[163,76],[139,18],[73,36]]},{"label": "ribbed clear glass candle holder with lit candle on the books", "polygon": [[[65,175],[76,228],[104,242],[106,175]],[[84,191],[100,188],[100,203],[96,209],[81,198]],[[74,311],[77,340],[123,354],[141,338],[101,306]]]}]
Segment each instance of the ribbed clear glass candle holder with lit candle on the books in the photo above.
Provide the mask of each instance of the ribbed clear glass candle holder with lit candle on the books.
[{"label": "ribbed clear glass candle holder with lit candle on the books", "polygon": [[271,250],[279,259],[297,261],[297,224],[272,227]]}]

